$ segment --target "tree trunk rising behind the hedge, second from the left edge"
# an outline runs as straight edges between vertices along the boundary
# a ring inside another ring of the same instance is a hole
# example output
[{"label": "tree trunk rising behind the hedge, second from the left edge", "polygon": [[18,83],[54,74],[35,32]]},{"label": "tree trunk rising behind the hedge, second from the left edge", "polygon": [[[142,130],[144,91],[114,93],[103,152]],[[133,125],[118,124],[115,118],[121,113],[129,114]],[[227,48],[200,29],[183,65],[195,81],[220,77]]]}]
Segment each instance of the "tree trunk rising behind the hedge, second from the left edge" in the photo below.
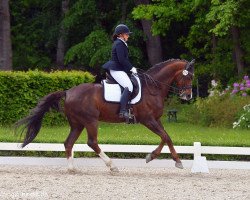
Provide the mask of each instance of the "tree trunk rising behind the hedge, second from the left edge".
[{"label": "tree trunk rising behind the hedge, second from the left edge", "polygon": [[[62,0],[62,18],[69,9],[69,0]],[[64,66],[64,54],[65,54],[65,36],[66,30],[61,24],[59,38],[57,41],[57,52],[56,52],[56,65],[59,67]]]}]

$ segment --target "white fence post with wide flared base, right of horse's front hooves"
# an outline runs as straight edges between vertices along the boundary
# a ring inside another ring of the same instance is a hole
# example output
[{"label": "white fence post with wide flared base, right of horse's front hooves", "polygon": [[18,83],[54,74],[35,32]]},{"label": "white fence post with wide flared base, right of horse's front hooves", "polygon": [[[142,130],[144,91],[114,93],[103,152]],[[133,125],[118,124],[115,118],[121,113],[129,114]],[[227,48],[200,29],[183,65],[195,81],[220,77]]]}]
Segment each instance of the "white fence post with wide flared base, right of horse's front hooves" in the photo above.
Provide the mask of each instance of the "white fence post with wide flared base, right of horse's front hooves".
[{"label": "white fence post with wide flared base, right of horse's front hooves", "polygon": [[205,156],[201,156],[201,143],[194,142],[194,162],[191,169],[192,173],[203,172],[209,173],[207,159]]}]

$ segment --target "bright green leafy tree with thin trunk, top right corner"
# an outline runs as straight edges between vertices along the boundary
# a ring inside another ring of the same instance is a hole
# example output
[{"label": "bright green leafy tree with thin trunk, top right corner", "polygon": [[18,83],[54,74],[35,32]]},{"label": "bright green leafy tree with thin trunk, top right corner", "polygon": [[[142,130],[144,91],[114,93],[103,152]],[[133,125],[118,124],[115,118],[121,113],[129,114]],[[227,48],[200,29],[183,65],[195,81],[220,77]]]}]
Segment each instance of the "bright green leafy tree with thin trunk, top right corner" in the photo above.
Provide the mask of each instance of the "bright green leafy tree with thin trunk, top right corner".
[{"label": "bright green leafy tree with thin trunk, top right corner", "polygon": [[213,0],[207,21],[216,25],[210,30],[216,36],[225,36],[232,33],[233,53],[238,75],[244,71],[243,50],[240,38],[240,27],[249,25],[249,1],[246,0]]}]

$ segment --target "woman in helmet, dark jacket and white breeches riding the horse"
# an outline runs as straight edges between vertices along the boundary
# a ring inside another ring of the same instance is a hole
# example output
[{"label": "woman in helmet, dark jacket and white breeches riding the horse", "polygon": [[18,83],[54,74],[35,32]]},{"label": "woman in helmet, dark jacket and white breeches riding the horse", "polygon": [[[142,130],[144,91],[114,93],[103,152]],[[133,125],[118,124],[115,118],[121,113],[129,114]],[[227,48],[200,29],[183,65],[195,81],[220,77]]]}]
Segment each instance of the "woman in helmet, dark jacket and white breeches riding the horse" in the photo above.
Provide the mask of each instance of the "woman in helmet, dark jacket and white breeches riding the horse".
[{"label": "woman in helmet, dark jacket and white breeches riding the horse", "polygon": [[127,104],[133,91],[133,84],[128,76],[131,72],[136,74],[137,70],[128,59],[127,41],[130,32],[125,24],[119,24],[113,34],[113,46],[111,60],[102,67],[110,72],[110,75],[121,85],[124,90],[120,100],[120,118],[129,118]]}]

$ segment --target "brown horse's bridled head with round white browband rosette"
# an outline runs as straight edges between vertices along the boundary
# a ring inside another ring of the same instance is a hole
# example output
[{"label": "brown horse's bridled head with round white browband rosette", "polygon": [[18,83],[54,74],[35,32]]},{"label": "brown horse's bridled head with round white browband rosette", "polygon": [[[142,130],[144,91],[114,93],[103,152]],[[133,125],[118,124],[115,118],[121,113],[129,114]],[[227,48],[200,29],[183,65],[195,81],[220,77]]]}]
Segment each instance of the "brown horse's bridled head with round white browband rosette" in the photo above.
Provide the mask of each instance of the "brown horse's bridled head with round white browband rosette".
[{"label": "brown horse's bridled head with round white browband rosette", "polygon": [[175,76],[175,82],[178,87],[180,98],[183,100],[192,99],[192,80],[194,77],[194,62],[187,62],[183,65],[183,68],[178,71]]}]

